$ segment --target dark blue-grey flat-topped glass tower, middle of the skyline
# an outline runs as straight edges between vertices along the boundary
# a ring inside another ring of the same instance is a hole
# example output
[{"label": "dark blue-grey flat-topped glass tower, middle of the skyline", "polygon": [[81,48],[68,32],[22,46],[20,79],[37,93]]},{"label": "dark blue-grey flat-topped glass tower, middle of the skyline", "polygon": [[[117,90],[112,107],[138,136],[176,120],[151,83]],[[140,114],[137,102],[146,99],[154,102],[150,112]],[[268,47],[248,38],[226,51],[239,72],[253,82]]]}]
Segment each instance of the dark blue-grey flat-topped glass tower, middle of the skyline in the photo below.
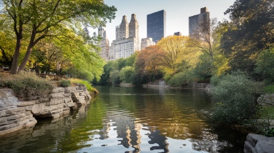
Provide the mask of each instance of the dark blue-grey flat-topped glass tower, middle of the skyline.
[{"label": "dark blue-grey flat-topped glass tower, middle of the skyline", "polygon": [[158,42],[166,37],[166,11],[160,10],[147,15],[147,37],[152,37],[154,42]]}]

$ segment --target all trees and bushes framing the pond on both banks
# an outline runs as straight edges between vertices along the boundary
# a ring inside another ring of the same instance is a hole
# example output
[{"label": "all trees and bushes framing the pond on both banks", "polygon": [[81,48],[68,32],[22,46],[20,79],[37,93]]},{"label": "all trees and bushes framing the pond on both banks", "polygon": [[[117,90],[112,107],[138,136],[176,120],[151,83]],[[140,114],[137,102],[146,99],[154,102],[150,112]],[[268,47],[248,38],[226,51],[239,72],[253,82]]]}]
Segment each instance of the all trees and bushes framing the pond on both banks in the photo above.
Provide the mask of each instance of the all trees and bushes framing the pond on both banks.
[{"label": "all trees and bushes framing the pond on both banks", "polygon": [[202,18],[190,37],[164,37],[131,57],[104,62],[100,38],[90,36],[88,28],[114,19],[114,6],[101,0],[2,0],[0,64],[8,65],[13,75],[0,75],[0,86],[28,99],[52,89],[47,80],[22,71],[71,75],[82,80],[63,81],[61,86],[81,83],[90,91],[95,91],[88,85],[91,81],[141,86],[165,80],[170,87],[210,82],[215,125],[247,125],[274,135],[269,125],[255,121],[274,119],[273,108],[255,105],[259,93],[274,93],[273,8],[273,0],[236,0],[225,11],[230,21]]}]

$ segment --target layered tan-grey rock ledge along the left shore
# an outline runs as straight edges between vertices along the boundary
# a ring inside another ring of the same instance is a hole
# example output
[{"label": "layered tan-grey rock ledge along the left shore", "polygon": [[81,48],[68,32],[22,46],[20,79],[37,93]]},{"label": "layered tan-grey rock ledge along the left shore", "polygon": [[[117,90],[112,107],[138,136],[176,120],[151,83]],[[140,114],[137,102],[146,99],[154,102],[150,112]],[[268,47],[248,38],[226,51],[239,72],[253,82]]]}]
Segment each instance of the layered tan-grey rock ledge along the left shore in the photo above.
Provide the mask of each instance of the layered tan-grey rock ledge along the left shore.
[{"label": "layered tan-grey rock ledge along the left shore", "polygon": [[35,118],[58,118],[71,109],[86,105],[91,99],[86,86],[57,87],[49,97],[19,101],[12,89],[0,89],[0,136],[33,127]]}]

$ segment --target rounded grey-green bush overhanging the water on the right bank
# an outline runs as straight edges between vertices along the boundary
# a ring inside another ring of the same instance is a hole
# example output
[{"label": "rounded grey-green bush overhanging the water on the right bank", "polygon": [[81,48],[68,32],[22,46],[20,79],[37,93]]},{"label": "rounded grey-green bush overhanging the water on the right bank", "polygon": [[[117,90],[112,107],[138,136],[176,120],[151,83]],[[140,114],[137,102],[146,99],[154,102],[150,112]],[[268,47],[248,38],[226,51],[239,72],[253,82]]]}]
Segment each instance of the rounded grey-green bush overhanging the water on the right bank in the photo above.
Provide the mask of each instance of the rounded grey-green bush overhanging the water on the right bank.
[{"label": "rounded grey-green bush overhanging the water on the right bank", "polygon": [[213,88],[213,100],[217,102],[211,120],[216,125],[242,125],[255,118],[255,87],[248,76],[241,72],[224,75]]}]

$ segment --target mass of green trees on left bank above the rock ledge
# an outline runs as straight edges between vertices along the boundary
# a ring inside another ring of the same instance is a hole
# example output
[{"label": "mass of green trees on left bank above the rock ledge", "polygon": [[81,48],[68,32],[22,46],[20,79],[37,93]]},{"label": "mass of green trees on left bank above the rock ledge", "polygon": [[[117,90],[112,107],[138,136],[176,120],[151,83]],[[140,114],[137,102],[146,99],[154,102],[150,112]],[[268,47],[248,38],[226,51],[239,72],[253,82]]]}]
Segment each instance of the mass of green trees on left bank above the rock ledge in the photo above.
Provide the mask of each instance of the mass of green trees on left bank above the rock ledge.
[{"label": "mass of green trees on left bank above the rock ledge", "polygon": [[0,9],[0,64],[11,74],[31,70],[99,80],[104,60],[99,38],[88,28],[114,19],[114,6],[99,0],[3,0]]}]

